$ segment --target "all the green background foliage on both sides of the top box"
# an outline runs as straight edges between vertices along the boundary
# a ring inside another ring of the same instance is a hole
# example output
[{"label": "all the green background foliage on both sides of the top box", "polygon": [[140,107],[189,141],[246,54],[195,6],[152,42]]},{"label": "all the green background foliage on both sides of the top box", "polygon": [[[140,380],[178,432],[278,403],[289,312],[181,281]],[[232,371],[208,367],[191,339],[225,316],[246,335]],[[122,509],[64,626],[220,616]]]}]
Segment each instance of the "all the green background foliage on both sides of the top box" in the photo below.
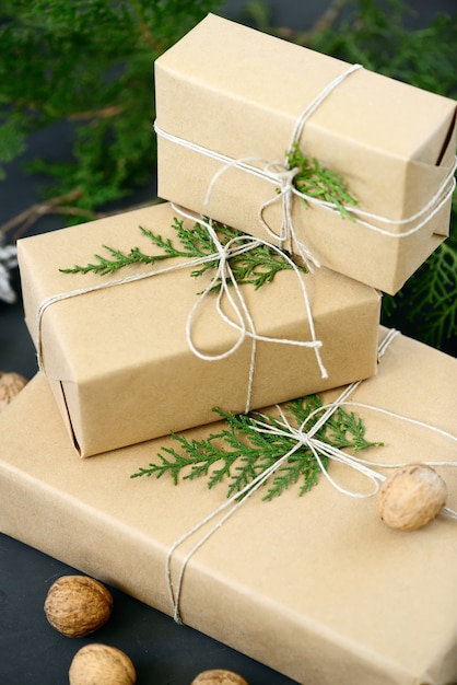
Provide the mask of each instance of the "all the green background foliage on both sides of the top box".
[{"label": "all the green background foliage on both sides of the top box", "polygon": [[[27,171],[52,179],[47,194],[71,202],[61,208],[70,221],[86,220],[148,184],[156,161],[153,61],[221,4],[2,0],[0,183],[32,131],[67,121],[74,135],[72,161],[39,159]],[[455,16],[436,16],[426,28],[409,30],[405,20],[413,13],[413,2],[333,0],[310,31],[293,32],[272,27],[263,2],[247,5],[250,15],[245,19],[262,31],[457,97]],[[456,217],[455,204],[453,231]],[[383,323],[408,320],[415,337],[445,348],[457,327],[456,252],[456,240],[447,241],[396,298],[385,297]]]}]

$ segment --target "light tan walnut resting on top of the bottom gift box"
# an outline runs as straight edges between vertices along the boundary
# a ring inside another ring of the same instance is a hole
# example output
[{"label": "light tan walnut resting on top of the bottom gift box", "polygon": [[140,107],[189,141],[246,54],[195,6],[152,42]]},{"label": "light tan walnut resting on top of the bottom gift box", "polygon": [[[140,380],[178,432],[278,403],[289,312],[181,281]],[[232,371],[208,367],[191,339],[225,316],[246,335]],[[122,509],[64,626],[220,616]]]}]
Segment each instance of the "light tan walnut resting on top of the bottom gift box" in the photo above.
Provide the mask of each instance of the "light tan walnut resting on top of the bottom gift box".
[{"label": "light tan walnut resting on top of the bottom gift box", "polygon": [[379,488],[377,509],[392,529],[415,531],[433,521],[446,503],[443,478],[425,464],[411,464],[396,471]]}]

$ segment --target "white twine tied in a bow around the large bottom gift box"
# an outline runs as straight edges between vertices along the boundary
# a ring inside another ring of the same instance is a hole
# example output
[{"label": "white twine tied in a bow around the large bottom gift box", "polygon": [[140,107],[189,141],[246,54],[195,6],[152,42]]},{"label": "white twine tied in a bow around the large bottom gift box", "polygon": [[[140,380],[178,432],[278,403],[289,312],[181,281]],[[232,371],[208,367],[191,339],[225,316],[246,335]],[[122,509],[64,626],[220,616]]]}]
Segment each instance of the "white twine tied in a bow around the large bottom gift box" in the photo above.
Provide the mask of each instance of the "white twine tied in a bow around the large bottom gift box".
[{"label": "white twine tied in a bow around the large bottom gift box", "polygon": [[[382,359],[382,357],[384,356],[385,351],[388,349],[389,345],[391,344],[391,341],[395,339],[395,337],[398,335],[397,330],[389,330],[387,333],[387,335],[385,336],[384,340],[380,342],[379,347],[378,347],[378,355],[379,355],[379,359]],[[374,497],[378,490],[379,490],[379,485],[380,483],[383,483],[386,479],[386,476],[384,474],[378,473],[377,471],[375,471],[373,467],[376,468],[400,468],[402,466],[406,466],[407,464],[405,463],[400,463],[400,464],[385,464],[382,462],[372,462],[372,461],[367,461],[364,458],[361,458],[359,456],[353,456],[351,454],[348,454],[345,452],[343,452],[342,450],[335,448],[332,445],[327,444],[326,442],[324,442],[323,440],[316,438],[316,433],[320,430],[320,428],[330,419],[330,417],[342,406],[354,406],[354,407],[362,407],[365,409],[371,409],[373,411],[377,411],[380,414],[384,414],[386,416],[389,416],[390,418],[394,419],[398,419],[401,421],[406,421],[408,423],[414,425],[414,426],[420,426],[421,428],[425,428],[429,429],[435,433],[438,433],[441,436],[444,436],[445,438],[448,438],[450,440],[454,440],[455,442],[457,442],[457,437],[445,431],[442,430],[440,428],[436,428],[435,426],[431,426],[429,423],[425,423],[423,421],[419,421],[417,419],[412,419],[409,418],[407,416],[400,415],[400,414],[396,414],[395,411],[389,411],[387,409],[382,409],[379,407],[373,406],[373,405],[367,405],[367,404],[363,404],[363,403],[359,403],[359,402],[349,402],[347,398],[354,392],[354,390],[356,387],[359,387],[359,385],[363,383],[363,381],[358,381],[355,383],[351,383],[350,385],[348,385],[348,387],[345,387],[341,394],[339,395],[339,397],[329,404],[323,405],[321,407],[318,407],[317,409],[314,409],[307,417],[306,419],[302,422],[302,425],[298,428],[294,428],[293,426],[291,426],[290,421],[288,420],[288,418],[285,417],[282,408],[277,405],[277,408],[279,410],[279,415],[280,415],[280,419],[276,420],[276,425],[271,425],[268,417],[262,415],[262,414],[258,414],[257,416],[259,418],[254,420],[254,423],[256,426],[256,430],[260,433],[266,433],[266,434],[270,434],[270,436],[280,436],[280,437],[285,437],[285,438],[293,438],[295,440],[295,444],[291,448],[291,450],[289,450],[289,452],[286,452],[282,457],[280,457],[277,462],[274,462],[274,464],[272,464],[271,466],[269,466],[267,469],[265,469],[261,474],[259,474],[256,478],[254,478],[250,483],[248,483],[242,490],[239,490],[238,492],[232,495],[228,499],[226,499],[222,504],[220,504],[216,509],[214,509],[212,512],[210,512],[207,516],[204,516],[201,521],[199,521],[196,525],[194,525],[190,530],[188,530],[187,532],[185,532],[168,549],[167,553],[167,557],[166,557],[166,564],[165,564],[165,579],[166,579],[166,584],[167,584],[167,591],[168,591],[168,596],[169,596],[169,601],[173,607],[173,617],[175,619],[176,623],[181,624],[181,617],[180,617],[180,611],[179,611],[179,605],[180,605],[180,597],[181,597],[181,592],[183,592],[183,581],[184,581],[184,574],[185,574],[185,570],[187,568],[187,565],[189,562],[189,560],[191,559],[191,557],[196,554],[196,552],[198,552],[198,549],[200,549],[200,547],[239,509],[239,507],[242,507],[242,504],[244,504],[247,499],[249,497],[251,497],[255,492],[257,492],[257,490],[276,473],[278,472],[281,466],[288,462],[288,460],[292,456],[292,454],[294,454],[297,450],[300,450],[302,446],[307,446],[312,453],[314,458],[316,460],[320,472],[323,473],[323,475],[327,478],[327,480],[330,483],[330,485],[336,488],[339,492],[347,495],[349,497],[353,497],[353,498],[359,498],[359,499],[366,499],[370,497]],[[306,431],[306,425],[308,422],[312,421],[312,419],[314,419],[316,417],[317,414],[323,413],[323,415],[320,416],[320,418],[314,423],[314,426],[312,426],[312,428]],[[342,487],[327,471],[327,468],[324,465],[323,462],[323,457],[327,457],[330,461],[333,462],[338,462],[341,464],[344,464],[347,466],[349,466],[350,468],[352,468],[353,471],[362,474],[363,476],[366,476],[368,478],[368,480],[371,480],[371,483],[373,484],[373,488],[372,490],[367,491],[367,492],[360,492],[360,491],[354,491],[354,490],[348,490],[347,488]],[[427,466],[438,466],[438,467],[457,467],[457,462],[423,462],[424,464],[426,464]],[[203,535],[202,537],[200,537],[200,539],[198,539],[195,545],[189,549],[189,552],[186,554],[186,556],[184,557],[180,567],[179,567],[179,572],[178,572],[178,578],[176,581],[176,589],[174,588],[173,584],[173,579],[172,579],[172,558],[173,555],[175,553],[175,550],[183,544],[185,543],[187,539],[189,539],[192,535],[195,535],[196,533],[198,533],[204,525],[207,525],[208,523],[210,523],[213,519],[215,519],[216,516],[219,516],[220,514],[222,514],[225,510],[227,510]],[[442,510],[442,514],[447,515],[452,519],[457,520],[457,511],[454,511],[453,509],[449,509],[448,507],[445,507]]]}]

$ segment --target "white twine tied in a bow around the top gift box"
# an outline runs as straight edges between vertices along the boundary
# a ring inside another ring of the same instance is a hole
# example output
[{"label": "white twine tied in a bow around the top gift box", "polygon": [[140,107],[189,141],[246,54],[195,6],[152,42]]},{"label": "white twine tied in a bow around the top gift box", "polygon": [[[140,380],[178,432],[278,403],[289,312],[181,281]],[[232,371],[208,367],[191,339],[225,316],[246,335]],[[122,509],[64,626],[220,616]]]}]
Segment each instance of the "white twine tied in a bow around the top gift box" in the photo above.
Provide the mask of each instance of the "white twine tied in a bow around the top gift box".
[{"label": "white twine tied in a bow around the top gift box", "polygon": [[[314,112],[320,106],[320,104],[328,97],[328,95],[340,84],[344,79],[349,76],[358,71],[359,69],[363,69],[361,65],[351,65],[345,71],[340,73],[338,77],[332,79],[326,88],[307,105],[307,107],[302,112],[297,120],[295,121],[295,126],[292,132],[290,150],[293,148],[295,143],[300,142],[300,138],[303,132],[303,128],[309,117],[314,114]],[[198,152],[199,154],[203,154],[208,158],[211,158],[218,162],[221,162],[223,166],[214,174],[212,177],[207,194],[204,196],[203,205],[208,206],[210,204],[211,194],[215,184],[218,183],[220,176],[225,173],[228,169],[237,169],[244,172],[247,172],[254,176],[261,178],[262,181],[267,181],[268,183],[273,184],[276,187],[279,186],[279,193],[274,195],[270,200],[263,202],[257,213],[257,218],[261,223],[262,228],[266,230],[267,234],[280,241],[281,245],[285,243],[288,248],[292,252],[292,244],[295,245],[296,252],[303,259],[304,264],[307,266],[309,270],[313,270],[313,267],[319,266],[317,258],[310,253],[310,251],[304,245],[301,241],[298,241],[293,219],[292,219],[292,204],[293,197],[297,197],[309,205],[315,205],[317,207],[321,207],[331,211],[333,213],[339,213],[340,210],[333,202],[323,200],[306,193],[300,191],[293,184],[293,179],[300,170],[290,169],[288,162],[288,155],[285,156],[284,162],[271,162],[268,160],[261,160],[257,158],[241,158],[241,159],[232,159],[225,154],[221,154],[215,152],[214,150],[210,150],[204,148],[203,146],[199,146],[191,141],[185,140],[178,136],[174,136],[167,131],[161,129],[157,123],[154,123],[154,130],[157,136],[164,138],[173,143],[187,148],[188,150],[192,150],[194,152]],[[444,205],[448,201],[450,196],[453,195],[456,187],[455,172],[457,169],[457,158],[454,161],[453,167],[447,173],[446,177],[440,185],[436,193],[431,197],[431,199],[414,214],[406,219],[388,219],[382,214],[376,214],[374,212],[364,211],[358,207],[353,207],[351,205],[344,205],[344,210],[351,214],[355,223],[363,225],[364,228],[378,233],[379,235],[384,235],[387,237],[397,237],[403,239],[414,233],[418,233],[426,223],[429,223],[444,207]],[[279,234],[274,233],[268,223],[263,219],[265,210],[278,202],[282,204],[282,224],[281,231]],[[406,229],[405,231],[394,232],[388,229],[380,228],[371,223],[372,221],[376,221],[378,223],[390,225],[390,227],[402,227],[406,224],[410,224],[419,221],[410,229]]]}]

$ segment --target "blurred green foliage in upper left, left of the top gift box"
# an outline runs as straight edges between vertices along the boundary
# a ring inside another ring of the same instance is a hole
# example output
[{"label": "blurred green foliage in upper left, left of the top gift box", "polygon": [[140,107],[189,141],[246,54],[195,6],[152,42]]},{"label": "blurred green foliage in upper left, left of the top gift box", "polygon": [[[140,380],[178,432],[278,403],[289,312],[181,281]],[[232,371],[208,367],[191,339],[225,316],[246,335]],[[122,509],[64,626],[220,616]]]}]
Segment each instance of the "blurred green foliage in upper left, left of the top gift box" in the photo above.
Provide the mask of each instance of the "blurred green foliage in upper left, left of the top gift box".
[{"label": "blurred green foliage in upper left, left of the top gift box", "polygon": [[71,163],[40,159],[28,167],[54,179],[50,195],[79,189],[73,204],[93,210],[144,185],[155,164],[154,59],[218,4],[3,0],[0,125],[14,124],[0,128],[0,163],[22,151],[30,132],[68,120]]}]

